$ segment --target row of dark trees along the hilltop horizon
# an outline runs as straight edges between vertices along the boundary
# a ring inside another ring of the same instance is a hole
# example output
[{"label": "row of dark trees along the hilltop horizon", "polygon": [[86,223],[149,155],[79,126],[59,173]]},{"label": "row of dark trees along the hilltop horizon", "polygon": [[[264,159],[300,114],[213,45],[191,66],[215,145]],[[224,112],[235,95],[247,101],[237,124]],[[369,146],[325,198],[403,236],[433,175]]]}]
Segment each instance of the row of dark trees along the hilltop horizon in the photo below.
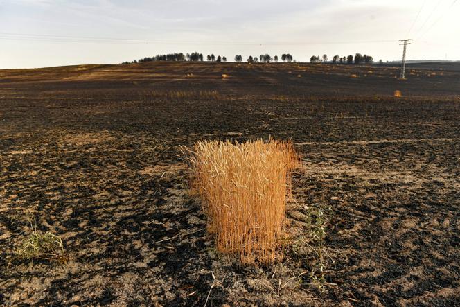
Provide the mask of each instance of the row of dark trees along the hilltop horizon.
[{"label": "row of dark trees along the hilltop horizon", "polygon": [[[207,55],[206,60],[208,62],[227,62],[227,58],[225,56],[218,55],[217,57],[214,54]],[[242,55],[235,55],[234,58],[235,62],[242,62],[243,58]],[[270,62],[278,62],[280,59],[278,55],[272,57],[269,54],[261,54],[259,57],[249,55],[247,58],[247,62],[261,62],[261,63],[270,63]],[[281,55],[281,60],[283,62],[296,62],[290,53],[283,53]],[[168,53],[163,55],[155,55],[153,57],[146,57],[139,60],[134,60],[132,62],[123,62],[122,64],[136,64],[136,63],[143,63],[143,62],[157,62],[157,61],[173,61],[173,62],[203,62],[204,55],[202,53]],[[321,63],[321,62],[328,62],[328,55],[324,54],[322,57],[312,55],[310,58],[310,63]],[[334,55],[333,64],[371,64],[373,63],[373,57],[371,55],[361,55],[361,53],[356,53],[355,56],[348,55],[344,57],[340,57],[339,55]],[[382,63],[382,60],[380,60]]]}]

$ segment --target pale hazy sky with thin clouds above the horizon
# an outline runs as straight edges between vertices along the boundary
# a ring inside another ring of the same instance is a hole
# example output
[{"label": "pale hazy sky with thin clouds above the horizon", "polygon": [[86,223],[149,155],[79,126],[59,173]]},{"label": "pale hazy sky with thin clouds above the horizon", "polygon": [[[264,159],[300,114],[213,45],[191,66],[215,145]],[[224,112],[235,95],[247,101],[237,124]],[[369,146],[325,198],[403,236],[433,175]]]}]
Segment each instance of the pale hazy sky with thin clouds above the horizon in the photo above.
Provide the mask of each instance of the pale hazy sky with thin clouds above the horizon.
[{"label": "pale hazy sky with thin clouds above the horizon", "polygon": [[455,0],[0,0],[0,69],[158,53],[460,60]]}]

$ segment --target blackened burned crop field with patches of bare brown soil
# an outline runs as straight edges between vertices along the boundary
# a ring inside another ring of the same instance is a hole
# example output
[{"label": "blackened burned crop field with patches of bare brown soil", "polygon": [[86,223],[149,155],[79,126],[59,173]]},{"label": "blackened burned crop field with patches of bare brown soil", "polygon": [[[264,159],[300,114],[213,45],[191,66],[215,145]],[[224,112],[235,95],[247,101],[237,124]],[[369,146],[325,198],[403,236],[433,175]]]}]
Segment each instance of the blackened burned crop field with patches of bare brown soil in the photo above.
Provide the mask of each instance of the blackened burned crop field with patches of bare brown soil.
[{"label": "blackened burned crop field with patches of bare brown soil", "polygon": [[[460,67],[408,71],[0,71],[0,305],[458,305]],[[270,136],[303,164],[289,236],[278,263],[242,265],[206,233],[179,146]],[[30,222],[62,239],[64,261],[15,256]]]}]

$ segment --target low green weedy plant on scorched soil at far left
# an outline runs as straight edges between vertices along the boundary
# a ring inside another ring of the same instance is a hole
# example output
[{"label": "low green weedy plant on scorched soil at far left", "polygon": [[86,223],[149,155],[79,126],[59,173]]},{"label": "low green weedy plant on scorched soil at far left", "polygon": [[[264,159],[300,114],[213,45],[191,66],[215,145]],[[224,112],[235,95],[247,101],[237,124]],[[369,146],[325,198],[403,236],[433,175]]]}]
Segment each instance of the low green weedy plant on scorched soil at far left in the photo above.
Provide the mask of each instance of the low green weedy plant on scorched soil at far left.
[{"label": "low green weedy plant on scorched soil at far left", "polygon": [[47,231],[39,234],[36,227],[30,224],[32,234],[16,249],[16,256],[21,260],[46,259],[67,263],[64,253],[64,245],[59,236]]}]

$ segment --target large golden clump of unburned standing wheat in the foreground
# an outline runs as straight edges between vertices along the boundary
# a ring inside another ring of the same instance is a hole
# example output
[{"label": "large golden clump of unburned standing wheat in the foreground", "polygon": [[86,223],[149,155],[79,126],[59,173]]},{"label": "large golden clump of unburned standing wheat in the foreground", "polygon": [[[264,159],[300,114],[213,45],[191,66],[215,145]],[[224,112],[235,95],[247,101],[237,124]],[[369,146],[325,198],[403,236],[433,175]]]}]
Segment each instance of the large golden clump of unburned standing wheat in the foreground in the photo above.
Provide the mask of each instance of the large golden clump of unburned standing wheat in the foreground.
[{"label": "large golden clump of unburned standing wheat in the foreground", "polygon": [[243,263],[275,261],[298,166],[292,144],[200,141],[190,161],[217,249],[240,254]]}]

